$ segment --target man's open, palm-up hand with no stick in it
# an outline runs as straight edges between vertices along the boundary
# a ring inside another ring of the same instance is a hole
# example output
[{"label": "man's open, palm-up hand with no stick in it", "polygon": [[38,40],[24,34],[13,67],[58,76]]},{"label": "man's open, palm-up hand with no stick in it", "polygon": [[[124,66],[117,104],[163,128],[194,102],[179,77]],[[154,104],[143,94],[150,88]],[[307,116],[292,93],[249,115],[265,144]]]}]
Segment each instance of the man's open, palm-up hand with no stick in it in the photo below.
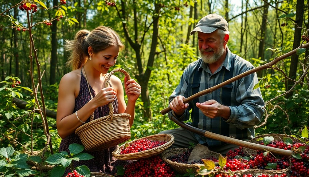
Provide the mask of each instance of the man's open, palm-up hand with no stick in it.
[{"label": "man's open, palm-up hand with no stick in it", "polygon": [[211,119],[215,117],[223,117],[227,120],[231,115],[231,110],[228,106],[223,106],[215,100],[196,103],[196,107],[198,107],[205,116]]}]

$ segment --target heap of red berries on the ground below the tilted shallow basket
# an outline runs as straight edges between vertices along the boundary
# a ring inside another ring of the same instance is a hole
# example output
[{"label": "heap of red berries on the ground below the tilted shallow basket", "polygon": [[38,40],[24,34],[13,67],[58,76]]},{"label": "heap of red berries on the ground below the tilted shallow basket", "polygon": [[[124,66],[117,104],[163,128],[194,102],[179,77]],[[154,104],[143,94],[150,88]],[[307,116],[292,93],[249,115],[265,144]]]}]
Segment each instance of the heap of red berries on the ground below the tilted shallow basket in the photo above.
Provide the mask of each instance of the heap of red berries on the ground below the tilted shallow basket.
[{"label": "heap of red berries on the ground below the tilted shallow basket", "polygon": [[175,177],[171,167],[158,155],[142,158],[124,167],[124,177]]}]

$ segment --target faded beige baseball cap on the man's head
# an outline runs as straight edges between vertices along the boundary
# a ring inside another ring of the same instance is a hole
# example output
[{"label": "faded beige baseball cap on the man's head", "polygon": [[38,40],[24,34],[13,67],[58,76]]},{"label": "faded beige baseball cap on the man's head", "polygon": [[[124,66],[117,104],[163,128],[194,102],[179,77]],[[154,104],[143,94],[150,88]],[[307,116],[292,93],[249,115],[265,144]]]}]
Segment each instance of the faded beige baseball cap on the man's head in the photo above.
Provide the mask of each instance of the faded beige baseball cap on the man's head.
[{"label": "faded beige baseball cap on the man's head", "polygon": [[216,29],[222,29],[224,31],[229,31],[229,25],[227,21],[220,15],[217,14],[209,14],[200,19],[195,28],[190,32],[190,34],[194,34],[194,32],[204,32],[211,33]]}]

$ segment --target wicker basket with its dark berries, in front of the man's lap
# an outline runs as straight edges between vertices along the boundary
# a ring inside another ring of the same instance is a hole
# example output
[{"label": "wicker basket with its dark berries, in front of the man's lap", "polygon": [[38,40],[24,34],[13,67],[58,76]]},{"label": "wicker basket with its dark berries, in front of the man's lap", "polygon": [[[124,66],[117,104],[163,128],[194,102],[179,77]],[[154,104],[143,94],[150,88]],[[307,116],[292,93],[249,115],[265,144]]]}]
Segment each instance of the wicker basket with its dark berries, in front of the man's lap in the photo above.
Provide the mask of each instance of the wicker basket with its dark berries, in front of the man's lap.
[{"label": "wicker basket with its dark berries, in front of the man's lap", "polygon": [[[193,148],[175,148],[164,151],[161,156],[164,162],[166,162],[172,169],[174,169],[179,174],[188,173],[191,171],[193,173],[197,173],[199,167],[196,163],[202,164],[204,163],[201,159],[194,160],[192,162],[188,162],[189,156]],[[215,164],[218,164],[218,158],[220,154],[210,151],[210,157],[205,158],[212,160]]]}]

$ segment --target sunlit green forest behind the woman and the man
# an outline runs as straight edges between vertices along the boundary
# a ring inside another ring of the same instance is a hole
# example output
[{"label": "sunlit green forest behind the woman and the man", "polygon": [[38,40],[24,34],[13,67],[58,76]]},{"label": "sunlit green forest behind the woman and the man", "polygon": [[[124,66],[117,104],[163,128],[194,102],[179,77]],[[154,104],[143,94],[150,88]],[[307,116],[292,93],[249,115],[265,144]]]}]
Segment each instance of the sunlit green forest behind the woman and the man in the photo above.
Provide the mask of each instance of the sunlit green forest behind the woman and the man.
[{"label": "sunlit green forest behind the woman and the man", "polygon": [[[198,20],[217,13],[229,23],[229,49],[255,67],[307,43],[306,0],[0,0],[0,147],[57,152],[58,84],[71,71],[63,48],[82,28],[112,27],[126,48],[114,68],[126,69],[142,86],[132,140],[176,128],[160,110],[184,68],[199,58]],[[66,2],[66,3],[64,3]],[[115,3],[115,5],[113,4]],[[297,134],[308,126],[308,50],[259,71],[266,112],[256,134]],[[122,80],[123,75],[116,73]]]}]

